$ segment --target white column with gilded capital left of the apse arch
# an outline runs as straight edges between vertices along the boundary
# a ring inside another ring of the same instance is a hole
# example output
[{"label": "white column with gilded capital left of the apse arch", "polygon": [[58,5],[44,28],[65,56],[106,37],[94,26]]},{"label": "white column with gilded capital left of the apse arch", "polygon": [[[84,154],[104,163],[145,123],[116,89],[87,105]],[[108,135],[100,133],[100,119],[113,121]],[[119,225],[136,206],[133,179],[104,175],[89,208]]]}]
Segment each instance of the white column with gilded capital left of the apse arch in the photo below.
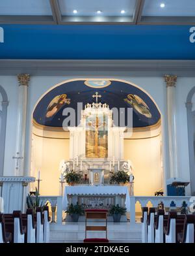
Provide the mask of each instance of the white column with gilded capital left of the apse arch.
[{"label": "white column with gilded capital left of the apse arch", "polygon": [[29,74],[18,74],[18,114],[16,127],[16,155],[15,175],[24,175],[24,157],[25,157],[25,131],[27,121],[27,91],[29,86]]}]

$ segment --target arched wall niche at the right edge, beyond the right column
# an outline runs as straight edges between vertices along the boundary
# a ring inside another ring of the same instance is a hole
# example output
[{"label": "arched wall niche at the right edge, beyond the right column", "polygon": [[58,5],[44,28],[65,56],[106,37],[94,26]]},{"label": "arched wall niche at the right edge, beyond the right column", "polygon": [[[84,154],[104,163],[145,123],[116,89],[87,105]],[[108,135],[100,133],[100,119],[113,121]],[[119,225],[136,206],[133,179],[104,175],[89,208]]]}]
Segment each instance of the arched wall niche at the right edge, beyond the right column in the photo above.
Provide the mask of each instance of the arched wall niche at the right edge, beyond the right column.
[{"label": "arched wall niche at the right edge, beyond the right column", "polygon": [[190,187],[192,195],[195,195],[195,110],[193,110],[192,98],[195,95],[195,86],[187,95],[187,123],[188,123],[188,149],[190,162]]}]

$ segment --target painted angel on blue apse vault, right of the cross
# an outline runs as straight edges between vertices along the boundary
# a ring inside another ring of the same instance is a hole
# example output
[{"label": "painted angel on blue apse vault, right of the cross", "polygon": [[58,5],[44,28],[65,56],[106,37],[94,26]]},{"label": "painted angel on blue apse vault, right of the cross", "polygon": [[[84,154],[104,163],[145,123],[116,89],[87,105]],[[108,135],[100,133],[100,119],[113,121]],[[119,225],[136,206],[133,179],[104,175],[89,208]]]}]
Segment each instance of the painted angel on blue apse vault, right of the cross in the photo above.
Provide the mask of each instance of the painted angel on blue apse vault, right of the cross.
[{"label": "painted angel on blue apse vault, right of the cross", "polygon": [[146,116],[146,118],[151,118],[148,105],[138,97],[138,95],[129,94],[127,95],[127,99],[124,99],[124,101],[133,106],[133,108],[135,108],[140,114]]}]

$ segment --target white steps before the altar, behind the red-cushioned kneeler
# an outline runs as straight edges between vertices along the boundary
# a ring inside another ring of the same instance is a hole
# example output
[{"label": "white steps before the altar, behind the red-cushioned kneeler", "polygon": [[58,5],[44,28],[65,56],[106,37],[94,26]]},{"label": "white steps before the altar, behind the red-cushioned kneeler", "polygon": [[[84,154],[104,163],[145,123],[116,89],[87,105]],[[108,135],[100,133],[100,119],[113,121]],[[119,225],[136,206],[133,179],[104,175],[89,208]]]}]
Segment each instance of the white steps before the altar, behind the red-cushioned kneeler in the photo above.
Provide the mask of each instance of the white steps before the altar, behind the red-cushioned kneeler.
[{"label": "white steps before the altar, behind the red-cushioned kneeler", "polygon": [[[104,225],[105,223],[98,223]],[[93,225],[93,223],[91,224]],[[97,225],[97,223],[96,223]],[[88,231],[88,238],[104,238],[105,232]],[[51,243],[77,243],[85,238],[85,223],[63,223],[50,225]],[[108,223],[108,238],[110,242],[141,242],[141,225],[131,223]]]}]

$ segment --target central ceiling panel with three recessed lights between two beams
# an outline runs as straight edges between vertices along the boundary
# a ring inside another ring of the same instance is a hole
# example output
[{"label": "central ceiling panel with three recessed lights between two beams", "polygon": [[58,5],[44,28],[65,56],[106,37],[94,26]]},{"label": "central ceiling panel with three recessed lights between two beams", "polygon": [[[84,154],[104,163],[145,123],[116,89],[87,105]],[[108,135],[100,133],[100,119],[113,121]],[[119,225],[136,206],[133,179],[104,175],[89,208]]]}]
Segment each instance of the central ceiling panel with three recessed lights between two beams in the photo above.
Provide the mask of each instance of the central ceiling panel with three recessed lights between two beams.
[{"label": "central ceiling panel with three recessed lights between two beams", "polygon": [[[133,16],[136,0],[59,0],[62,15],[96,16],[101,10],[101,16]],[[77,14],[73,14],[77,10]],[[125,14],[120,11],[125,10]]]}]

